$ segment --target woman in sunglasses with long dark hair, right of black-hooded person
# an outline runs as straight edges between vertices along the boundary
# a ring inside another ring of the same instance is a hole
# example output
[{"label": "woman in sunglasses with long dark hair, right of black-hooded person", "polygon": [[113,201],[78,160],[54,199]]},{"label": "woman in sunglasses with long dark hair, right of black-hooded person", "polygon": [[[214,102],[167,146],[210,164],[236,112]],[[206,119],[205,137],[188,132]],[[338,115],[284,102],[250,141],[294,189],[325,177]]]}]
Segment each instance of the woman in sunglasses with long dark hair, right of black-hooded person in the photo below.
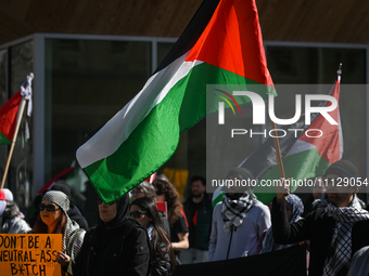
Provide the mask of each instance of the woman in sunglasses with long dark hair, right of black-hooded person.
[{"label": "woman in sunglasses with long dark hair, right of black-hooded person", "polygon": [[147,197],[133,200],[130,205],[130,218],[140,222],[148,231],[153,249],[150,275],[171,274],[175,268],[175,255],[155,201]]}]

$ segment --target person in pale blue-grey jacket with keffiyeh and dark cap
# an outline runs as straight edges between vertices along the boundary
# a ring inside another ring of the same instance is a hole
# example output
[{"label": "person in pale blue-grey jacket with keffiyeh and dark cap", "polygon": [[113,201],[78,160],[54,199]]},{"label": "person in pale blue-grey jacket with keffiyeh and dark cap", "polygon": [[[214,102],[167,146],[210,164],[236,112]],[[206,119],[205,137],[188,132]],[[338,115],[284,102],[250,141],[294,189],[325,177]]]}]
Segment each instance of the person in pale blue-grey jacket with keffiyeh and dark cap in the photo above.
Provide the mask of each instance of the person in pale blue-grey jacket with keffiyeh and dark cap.
[{"label": "person in pale blue-grey jacket with keffiyeh and dark cap", "polygon": [[213,212],[209,239],[209,261],[258,254],[265,232],[270,227],[269,208],[257,200],[250,183],[253,174],[244,168],[229,171],[225,186],[226,195]]}]

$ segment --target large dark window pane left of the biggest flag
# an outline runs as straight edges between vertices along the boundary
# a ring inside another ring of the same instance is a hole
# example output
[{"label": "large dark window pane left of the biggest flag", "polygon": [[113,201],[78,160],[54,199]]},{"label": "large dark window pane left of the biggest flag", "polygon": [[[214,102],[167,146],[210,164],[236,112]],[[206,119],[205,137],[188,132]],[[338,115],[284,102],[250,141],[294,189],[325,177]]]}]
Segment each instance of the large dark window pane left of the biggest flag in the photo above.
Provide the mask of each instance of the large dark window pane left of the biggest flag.
[{"label": "large dark window pane left of the biggest flag", "polygon": [[68,168],[86,134],[97,131],[143,87],[149,42],[46,41],[47,179]]}]

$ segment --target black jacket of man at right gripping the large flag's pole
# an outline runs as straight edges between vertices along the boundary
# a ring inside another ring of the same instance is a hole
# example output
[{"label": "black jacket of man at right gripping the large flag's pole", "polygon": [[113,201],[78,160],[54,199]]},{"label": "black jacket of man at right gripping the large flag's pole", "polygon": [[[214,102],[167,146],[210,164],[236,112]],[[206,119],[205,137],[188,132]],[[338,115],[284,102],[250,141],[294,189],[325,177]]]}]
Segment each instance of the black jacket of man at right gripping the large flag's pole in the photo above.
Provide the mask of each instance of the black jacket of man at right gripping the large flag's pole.
[{"label": "black jacket of man at right gripping the large flag's pole", "polygon": [[[309,276],[322,275],[328,249],[335,226],[334,219],[321,216],[323,208],[318,208],[304,219],[289,224],[285,215],[284,201],[277,203],[276,198],[271,209],[272,235],[279,245],[295,244],[310,240]],[[369,245],[369,220],[354,224],[352,231],[352,257],[361,247]],[[340,271],[338,276],[346,275],[347,270]]]}]

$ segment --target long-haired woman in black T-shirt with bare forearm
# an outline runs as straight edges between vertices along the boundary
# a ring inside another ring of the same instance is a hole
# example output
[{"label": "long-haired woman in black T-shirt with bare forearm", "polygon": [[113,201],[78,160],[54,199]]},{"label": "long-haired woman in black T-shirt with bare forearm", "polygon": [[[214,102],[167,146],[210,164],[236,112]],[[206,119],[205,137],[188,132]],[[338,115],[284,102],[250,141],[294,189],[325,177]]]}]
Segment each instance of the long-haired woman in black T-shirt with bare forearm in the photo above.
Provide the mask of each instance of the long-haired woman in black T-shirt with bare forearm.
[{"label": "long-haired woman in black T-shirt with bare forearm", "polygon": [[[156,179],[153,185],[156,201],[167,202],[171,247],[175,250],[176,257],[178,257],[179,251],[189,248],[189,228],[178,192],[170,182],[162,179]],[[179,260],[177,262],[179,263]]]}]

